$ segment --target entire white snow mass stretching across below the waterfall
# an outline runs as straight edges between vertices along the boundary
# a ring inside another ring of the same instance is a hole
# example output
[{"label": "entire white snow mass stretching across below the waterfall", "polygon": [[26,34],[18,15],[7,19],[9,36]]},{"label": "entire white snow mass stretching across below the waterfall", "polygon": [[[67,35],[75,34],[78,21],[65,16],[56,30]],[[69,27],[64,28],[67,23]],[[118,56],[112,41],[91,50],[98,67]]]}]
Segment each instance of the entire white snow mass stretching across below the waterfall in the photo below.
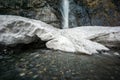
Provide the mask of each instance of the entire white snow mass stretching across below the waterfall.
[{"label": "entire white snow mass stretching across below the waterfall", "polygon": [[0,15],[0,44],[6,46],[29,44],[40,38],[50,49],[93,54],[109,50],[104,45],[109,47],[110,41],[112,46],[120,47],[119,35],[119,27],[86,26],[61,30],[38,20]]}]

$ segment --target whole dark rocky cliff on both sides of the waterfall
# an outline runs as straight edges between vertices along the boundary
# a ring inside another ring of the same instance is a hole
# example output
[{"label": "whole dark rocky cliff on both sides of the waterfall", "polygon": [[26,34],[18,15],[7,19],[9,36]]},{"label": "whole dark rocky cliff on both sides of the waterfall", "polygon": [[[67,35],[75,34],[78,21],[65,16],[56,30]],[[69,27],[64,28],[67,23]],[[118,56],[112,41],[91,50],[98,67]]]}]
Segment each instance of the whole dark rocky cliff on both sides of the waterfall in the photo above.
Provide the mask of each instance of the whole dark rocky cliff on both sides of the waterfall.
[{"label": "whole dark rocky cliff on both sides of the waterfall", "polygon": [[[120,1],[69,0],[69,25],[120,26]],[[1,0],[0,14],[20,15],[60,27],[61,0]]]}]

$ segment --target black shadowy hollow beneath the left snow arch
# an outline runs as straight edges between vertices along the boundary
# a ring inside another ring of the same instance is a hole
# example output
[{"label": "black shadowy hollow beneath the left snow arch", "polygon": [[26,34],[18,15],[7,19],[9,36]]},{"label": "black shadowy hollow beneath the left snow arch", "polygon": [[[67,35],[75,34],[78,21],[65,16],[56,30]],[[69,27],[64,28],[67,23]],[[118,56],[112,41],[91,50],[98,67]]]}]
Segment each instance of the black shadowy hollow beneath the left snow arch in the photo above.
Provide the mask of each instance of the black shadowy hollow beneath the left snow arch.
[{"label": "black shadowy hollow beneath the left snow arch", "polygon": [[46,41],[41,41],[39,38],[28,44],[19,43],[15,46],[5,46],[3,44],[0,44],[0,54],[13,54],[36,49],[47,49],[45,44]]}]

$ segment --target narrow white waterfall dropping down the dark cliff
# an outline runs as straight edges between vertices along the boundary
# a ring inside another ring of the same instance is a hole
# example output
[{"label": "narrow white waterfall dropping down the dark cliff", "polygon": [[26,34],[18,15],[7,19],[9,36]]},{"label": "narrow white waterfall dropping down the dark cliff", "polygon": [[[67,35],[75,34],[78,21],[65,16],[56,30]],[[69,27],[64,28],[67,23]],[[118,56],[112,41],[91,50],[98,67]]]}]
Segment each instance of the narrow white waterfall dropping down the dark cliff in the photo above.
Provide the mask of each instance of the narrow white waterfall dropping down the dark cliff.
[{"label": "narrow white waterfall dropping down the dark cliff", "polygon": [[62,28],[69,28],[69,1],[62,0],[61,4],[61,14],[62,14]]}]

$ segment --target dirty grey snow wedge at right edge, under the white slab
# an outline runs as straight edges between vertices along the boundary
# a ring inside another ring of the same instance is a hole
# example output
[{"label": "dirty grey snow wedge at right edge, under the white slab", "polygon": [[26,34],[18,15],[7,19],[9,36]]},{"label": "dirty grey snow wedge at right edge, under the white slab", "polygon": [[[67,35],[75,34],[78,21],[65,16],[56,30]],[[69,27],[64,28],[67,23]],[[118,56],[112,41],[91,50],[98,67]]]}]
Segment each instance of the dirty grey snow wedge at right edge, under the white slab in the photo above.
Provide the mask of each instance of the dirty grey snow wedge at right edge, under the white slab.
[{"label": "dirty grey snow wedge at right edge, under the white slab", "polygon": [[120,31],[103,34],[92,38],[93,41],[104,44],[107,47],[119,47],[120,48]]}]

